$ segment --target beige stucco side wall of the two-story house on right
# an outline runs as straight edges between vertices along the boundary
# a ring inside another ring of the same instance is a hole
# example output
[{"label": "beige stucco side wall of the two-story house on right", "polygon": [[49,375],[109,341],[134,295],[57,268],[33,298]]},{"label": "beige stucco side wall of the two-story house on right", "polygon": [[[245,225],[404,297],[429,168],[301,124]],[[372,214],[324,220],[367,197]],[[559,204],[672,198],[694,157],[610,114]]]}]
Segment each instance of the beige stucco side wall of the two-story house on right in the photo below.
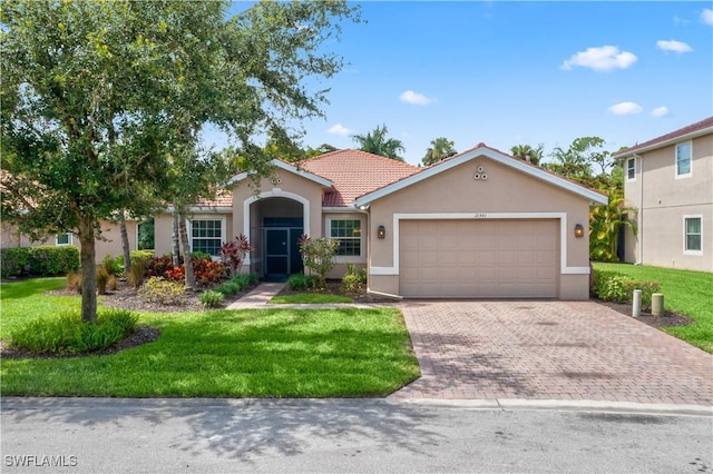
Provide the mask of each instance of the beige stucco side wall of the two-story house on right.
[{"label": "beige stucco side wall of the two-story house on right", "polygon": [[[636,178],[625,180],[624,192],[626,206],[638,209],[639,230],[626,235],[626,261],[713,271],[713,135],[691,142],[691,177],[675,177],[675,145],[636,158]],[[703,255],[684,254],[686,215],[702,215]]]}]

